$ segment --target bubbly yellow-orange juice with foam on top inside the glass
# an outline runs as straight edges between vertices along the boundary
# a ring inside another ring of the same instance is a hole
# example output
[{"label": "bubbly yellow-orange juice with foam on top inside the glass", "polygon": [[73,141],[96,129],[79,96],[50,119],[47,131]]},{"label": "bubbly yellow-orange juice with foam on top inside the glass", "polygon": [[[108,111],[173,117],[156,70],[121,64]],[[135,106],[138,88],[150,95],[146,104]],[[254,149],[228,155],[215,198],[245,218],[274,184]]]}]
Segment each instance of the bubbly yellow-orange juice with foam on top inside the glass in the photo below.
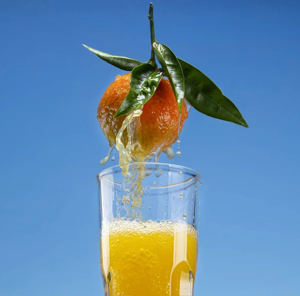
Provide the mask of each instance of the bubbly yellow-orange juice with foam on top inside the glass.
[{"label": "bubbly yellow-orange juice with foam on top inside the glass", "polygon": [[102,224],[100,252],[106,295],[192,295],[197,231],[191,225],[113,219]]}]

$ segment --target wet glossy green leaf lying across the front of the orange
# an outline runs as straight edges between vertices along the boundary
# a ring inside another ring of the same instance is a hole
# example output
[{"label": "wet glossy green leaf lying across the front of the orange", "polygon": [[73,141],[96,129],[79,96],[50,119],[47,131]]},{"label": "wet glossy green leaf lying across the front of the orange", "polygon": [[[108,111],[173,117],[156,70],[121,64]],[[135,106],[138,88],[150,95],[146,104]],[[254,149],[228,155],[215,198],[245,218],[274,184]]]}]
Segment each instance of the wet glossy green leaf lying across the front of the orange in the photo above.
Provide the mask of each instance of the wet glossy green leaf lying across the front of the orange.
[{"label": "wet glossy green leaf lying across the front of the orange", "polygon": [[113,117],[127,114],[143,106],[154,94],[162,76],[163,71],[150,63],[136,66],[131,72],[130,90]]}]

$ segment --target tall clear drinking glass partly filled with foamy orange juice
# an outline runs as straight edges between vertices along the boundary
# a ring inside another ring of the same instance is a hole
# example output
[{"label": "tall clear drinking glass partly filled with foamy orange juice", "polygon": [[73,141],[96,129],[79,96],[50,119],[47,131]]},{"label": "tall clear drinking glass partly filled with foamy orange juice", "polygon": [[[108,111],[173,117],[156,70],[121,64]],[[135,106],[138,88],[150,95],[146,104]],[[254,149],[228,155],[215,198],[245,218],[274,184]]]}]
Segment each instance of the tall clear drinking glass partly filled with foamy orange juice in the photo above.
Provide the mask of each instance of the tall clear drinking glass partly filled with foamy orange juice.
[{"label": "tall clear drinking glass partly filled with foamy orange juice", "polygon": [[178,165],[133,163],[129,177],[114,166],[97,180],[105,296],[192,296],[200,175]]}]

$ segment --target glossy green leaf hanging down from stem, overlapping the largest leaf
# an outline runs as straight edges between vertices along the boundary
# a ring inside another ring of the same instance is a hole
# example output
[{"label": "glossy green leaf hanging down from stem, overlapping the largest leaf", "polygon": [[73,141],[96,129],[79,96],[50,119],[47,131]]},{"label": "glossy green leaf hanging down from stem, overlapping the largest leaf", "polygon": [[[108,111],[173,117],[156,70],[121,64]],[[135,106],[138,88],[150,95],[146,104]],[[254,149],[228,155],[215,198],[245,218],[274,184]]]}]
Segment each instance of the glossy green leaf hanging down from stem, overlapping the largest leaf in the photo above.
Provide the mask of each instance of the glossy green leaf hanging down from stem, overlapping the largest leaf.
[{"label": "glossy green leaf hanging down from stem, overlapping the largest leaf", "polygon": [[184,77],[180,63],[176,55],[166,45],[157,42],[154,42],[152,45],[155,55],[171,83],[179,113],[181,113],[181,105],[184,98]]}]

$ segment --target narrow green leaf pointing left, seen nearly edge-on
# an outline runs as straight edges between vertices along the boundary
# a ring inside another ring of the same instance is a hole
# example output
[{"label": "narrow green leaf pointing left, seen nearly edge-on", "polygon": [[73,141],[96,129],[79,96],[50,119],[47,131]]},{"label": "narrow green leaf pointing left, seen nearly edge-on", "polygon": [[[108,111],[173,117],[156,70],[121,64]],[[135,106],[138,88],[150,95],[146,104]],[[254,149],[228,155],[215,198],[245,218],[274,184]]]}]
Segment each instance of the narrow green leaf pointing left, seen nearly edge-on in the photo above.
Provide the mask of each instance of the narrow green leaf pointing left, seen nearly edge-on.
[{"label": "narrow green leaf pointing left, seen nearly edge-on", "polygon": [[136,59],[132,59],[129,57],[124,57],[124,56],[116,56],[116,55],[110,55],[108,53],[93,49],[89,46],[86,46],[82,44],[84,47],[86,47],[88,50],[93,52],[95,55],[100,57],[101,59],[107,61],[108,63],[112,64],[113,66],[120,68],[125,71],[131,71],[134,67],[138,66],[141,64],[140,61]]}]

